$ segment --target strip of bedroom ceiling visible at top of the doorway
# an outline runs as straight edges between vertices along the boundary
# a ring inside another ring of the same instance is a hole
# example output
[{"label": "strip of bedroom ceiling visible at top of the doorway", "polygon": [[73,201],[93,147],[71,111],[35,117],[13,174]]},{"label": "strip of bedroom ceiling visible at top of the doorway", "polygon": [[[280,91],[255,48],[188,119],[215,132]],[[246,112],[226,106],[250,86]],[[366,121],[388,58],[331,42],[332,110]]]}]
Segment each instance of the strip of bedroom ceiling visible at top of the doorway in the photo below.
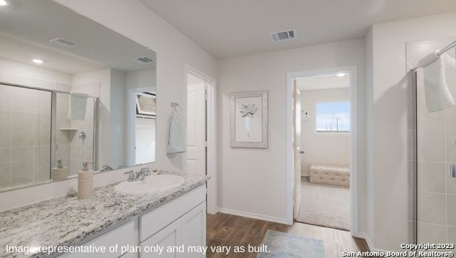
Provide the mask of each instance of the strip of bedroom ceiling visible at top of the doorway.
[{"label": "strip of bedroom ceiling visible at top of the doorway", "polygon": [[311,76],[296,79],[296,86],[299,91],[328,90],[334,88],[348,88],[350,76],[339,77],[336,74],[325,76]]}]

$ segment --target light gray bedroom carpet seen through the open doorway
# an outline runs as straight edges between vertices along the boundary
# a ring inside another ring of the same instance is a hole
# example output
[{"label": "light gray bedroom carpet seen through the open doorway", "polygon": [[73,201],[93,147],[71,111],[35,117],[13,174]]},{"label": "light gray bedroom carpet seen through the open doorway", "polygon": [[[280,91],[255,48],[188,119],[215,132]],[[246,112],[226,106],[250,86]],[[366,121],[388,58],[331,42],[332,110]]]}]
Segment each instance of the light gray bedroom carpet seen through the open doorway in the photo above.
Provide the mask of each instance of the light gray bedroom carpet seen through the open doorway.
[{"label": "light gray bedroom carpet seen through the open doorway", "polygon": [[319,185],[301,179],[299,222],[350,230],[350,190],[348,187]]}]

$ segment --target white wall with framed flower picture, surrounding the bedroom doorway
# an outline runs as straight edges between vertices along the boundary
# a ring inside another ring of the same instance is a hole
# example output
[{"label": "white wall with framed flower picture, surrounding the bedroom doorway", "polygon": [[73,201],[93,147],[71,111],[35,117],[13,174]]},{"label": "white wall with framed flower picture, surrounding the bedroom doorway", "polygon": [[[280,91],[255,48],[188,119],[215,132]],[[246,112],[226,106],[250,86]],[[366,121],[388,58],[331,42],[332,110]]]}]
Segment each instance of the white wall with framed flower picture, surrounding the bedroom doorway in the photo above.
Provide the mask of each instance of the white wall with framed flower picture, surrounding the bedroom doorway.
[{"label": "white wall with framed flower picture, surrounding the bedroom doorway", "polygon": [[[220,60],[218,63],[219,207],[225,212],[286,221],[286,73],[323,68],[358,68],[358,159],[363,184],[364,63],[363,39],[294,48]],[[237,91],[268,91],[269,148],[229,146],[230,96]],[[361,192],[361,195],[363,193]],[[363,207],[364,204],[359,204]],[[363,208],[360,209],[361,211]],[[364,218],[364,215],[360,215]]]}]

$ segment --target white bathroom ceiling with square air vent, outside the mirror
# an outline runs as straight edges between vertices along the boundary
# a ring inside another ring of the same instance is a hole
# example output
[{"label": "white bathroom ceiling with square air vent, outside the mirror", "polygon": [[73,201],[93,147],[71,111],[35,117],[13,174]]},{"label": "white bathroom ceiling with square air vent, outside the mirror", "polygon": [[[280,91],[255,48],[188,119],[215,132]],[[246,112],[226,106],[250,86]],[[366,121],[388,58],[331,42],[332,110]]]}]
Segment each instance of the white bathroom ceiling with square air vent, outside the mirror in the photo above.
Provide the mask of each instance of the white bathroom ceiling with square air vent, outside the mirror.
[{"label": "white bathroom ceiling with square air vent, outside the mirror", "polygon": [[[140,0],[216,58],[361,38],[369,26],[456,11],[455,0]],[[269,33],[296,29],[272,43]]]}]

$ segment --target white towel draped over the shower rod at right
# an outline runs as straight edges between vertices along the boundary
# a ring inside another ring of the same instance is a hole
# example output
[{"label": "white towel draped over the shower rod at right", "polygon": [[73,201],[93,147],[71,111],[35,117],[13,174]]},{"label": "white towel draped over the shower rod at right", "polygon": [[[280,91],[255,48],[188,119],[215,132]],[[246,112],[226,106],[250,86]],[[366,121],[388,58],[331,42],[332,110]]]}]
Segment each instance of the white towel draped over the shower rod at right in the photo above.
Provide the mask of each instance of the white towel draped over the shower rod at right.
[{"label": "white towel draped over the shower rod at right", "polygon": [[[433,56],[432,56],[433,55]],[[455,105],[445,77],[445,67],[456,68],[455,59],[443,53],[440,56],[432,54],[420,61],[424,65],[418,69],[418,82],[424,83],[427,111],[435,112]],[[434,59],[432,61],[432,59]],[[429,63],[429,64],[427,64]]]}]

